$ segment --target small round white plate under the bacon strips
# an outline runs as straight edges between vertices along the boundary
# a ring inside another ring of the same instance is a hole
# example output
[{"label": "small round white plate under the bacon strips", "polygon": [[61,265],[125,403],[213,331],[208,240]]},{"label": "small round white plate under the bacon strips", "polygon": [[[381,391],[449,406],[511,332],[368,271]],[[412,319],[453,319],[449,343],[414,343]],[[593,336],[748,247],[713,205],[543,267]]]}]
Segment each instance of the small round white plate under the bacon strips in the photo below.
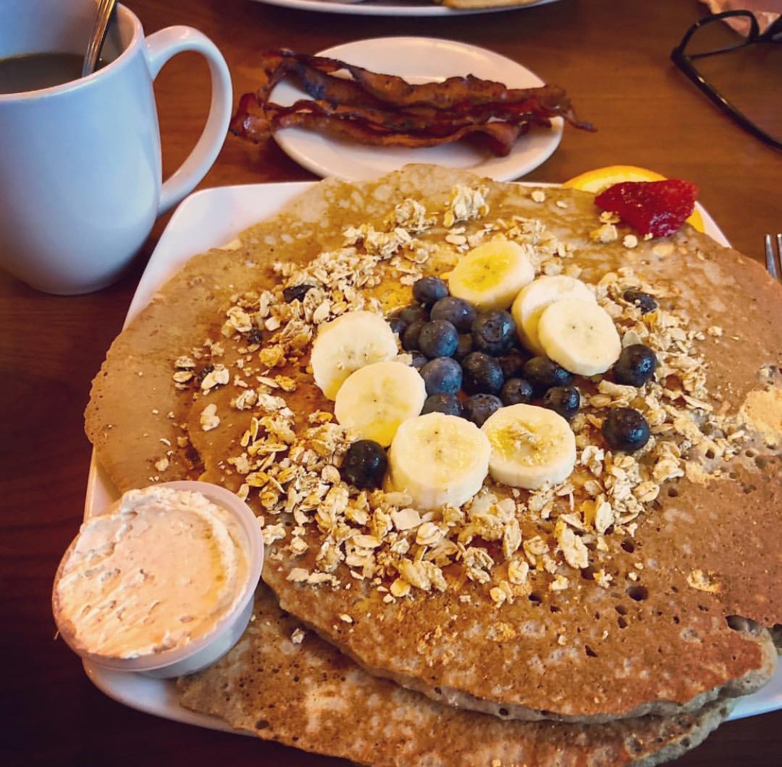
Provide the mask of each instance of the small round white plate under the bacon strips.
[{"label": "small round white plate under the bacon strips", "polygon": [[[435,38],[375,38],[321,51],[318,56],[363,66],[374,72],[396,74],[412,83],[442,81],[452,75],[473,74],[499,81],[509,88],[535,88],[540,77],[521,64],[475,45]],[[307,98],[289,81],[271,91],[271,101],[289,106]],[[551,128],[534,127],[520,137],[506,157],[495,157],[468,142],[454,142],[421,149],[396,146],[363,146],[302,128],[284,128],[274,134],[282,150],[301,166],[321,177],[366,181],[407,163],[431,163],[476,173],[495,181],[511,181],[529,173],[548,159],[562,138],[562,119]]]}]

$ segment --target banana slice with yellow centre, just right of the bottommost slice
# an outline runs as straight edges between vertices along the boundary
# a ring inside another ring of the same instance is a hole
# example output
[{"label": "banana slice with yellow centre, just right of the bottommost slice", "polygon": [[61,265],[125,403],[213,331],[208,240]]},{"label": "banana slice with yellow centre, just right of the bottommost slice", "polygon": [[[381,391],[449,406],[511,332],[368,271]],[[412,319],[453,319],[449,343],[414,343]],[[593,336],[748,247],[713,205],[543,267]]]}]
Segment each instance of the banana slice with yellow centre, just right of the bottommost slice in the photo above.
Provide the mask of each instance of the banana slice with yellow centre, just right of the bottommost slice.
[{"label": "banana slice with yellow centre, just right of the bottommost slice", "polygon": [[562,482],[576,465],[576,436],[561,415],[536,405],[500,407],[482,425],[496,482],[536,490]]}]

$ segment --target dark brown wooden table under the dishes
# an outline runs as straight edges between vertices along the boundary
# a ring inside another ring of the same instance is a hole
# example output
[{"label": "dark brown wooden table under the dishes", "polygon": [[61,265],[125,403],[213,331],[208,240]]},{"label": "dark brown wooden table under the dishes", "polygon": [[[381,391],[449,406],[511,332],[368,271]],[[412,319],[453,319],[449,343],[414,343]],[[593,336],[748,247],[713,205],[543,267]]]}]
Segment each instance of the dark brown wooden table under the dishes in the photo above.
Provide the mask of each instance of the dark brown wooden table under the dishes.
[{"label": "dark brown wooden table under the dishes", "polygon": [[[251,0],[128,4],[148,33],[177,23],[203,30],[228,60],[236,94],[253,90],[257,54],[264,48],[317,52],[381,35],[429,35],[491,48],[564,85],[579,116],[599,129],[566,130],[558,151],[527,179],[565,181],[590,168],[633,163],[696,182],[702,203],[749,256],[760,259],[762,236],[782,230],[782,153],[741,131],[669,63],[671,48],[704,13],[695,0],[564,0],[429,19],[308,13]],[[208,102],[206,66],[195,56],[181,56],[163,70],[156,88],[170,172],[200,131]],[[273,142],[256,147],[231,137],[201,187],[311,178]],[[2,190],[10,194],[13,190]],[[130,273],[92,296],[45,296],[0,274],[7,754],[0,761],[18,767],[335,765],[336,760],[126,708],[96,690],[54,636],[52,576],[84,506],[90,446],[82,412],[90,380],[120,330],[166,221],[156,224]],[[770,767],[780,760],[782,711],[777,711],[726,724],[677,763]]]}]

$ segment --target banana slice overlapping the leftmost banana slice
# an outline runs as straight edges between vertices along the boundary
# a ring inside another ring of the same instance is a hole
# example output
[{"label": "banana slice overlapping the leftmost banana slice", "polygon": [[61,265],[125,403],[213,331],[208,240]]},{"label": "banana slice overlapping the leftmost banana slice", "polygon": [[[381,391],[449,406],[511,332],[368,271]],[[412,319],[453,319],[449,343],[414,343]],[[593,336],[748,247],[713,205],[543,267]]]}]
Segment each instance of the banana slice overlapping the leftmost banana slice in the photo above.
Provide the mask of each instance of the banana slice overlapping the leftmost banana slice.
[{"label": "banana slice overlapping the leftmost banana slice", "polygon": [[401,362],[374,362],[351,373],[339,387],[334,415],[361,439],[391,444],[402,421],[421,412],[426,400],[424,379]]}]

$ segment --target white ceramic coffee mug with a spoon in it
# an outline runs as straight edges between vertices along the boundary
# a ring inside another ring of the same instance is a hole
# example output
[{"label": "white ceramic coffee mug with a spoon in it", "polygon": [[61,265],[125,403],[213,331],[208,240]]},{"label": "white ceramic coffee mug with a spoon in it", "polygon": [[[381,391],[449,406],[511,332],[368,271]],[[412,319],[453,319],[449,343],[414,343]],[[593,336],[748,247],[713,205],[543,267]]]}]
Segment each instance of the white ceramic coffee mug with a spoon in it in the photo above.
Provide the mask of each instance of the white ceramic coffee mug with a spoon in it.
[{"label": "white ceramic coffee mug with a spoon in it", "polygon": [[[0,59],[83,55],[94,17],[94,0],[0,3]],[[201,138],[163,183],[152,81],[182,51],[206,58],[212,100]],[[228,131],[231,76],[199,31],[169,27],[145,38],[118,5],[103,52],[108,63],[88,77],[0,94],[0,266],[48,293],[116,281],[156,217],[204,177]]]}]

